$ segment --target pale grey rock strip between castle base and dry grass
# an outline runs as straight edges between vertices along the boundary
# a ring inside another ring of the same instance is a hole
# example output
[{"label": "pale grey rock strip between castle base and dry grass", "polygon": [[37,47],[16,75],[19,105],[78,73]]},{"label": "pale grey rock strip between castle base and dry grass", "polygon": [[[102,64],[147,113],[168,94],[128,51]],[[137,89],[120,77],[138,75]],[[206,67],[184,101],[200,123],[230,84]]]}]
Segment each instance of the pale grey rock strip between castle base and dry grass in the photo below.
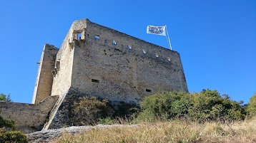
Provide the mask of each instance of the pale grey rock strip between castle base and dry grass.
[{"label": "pale grey rock strip between castle base and dry grass", "polygon": [[46,131],[33,132],[31,134],[26,134],[29,142],[52,142],[53,140],[58,139],[61,134],[69,133],[76,134],[79,132],[88,131],[89,129],[95,128],[106,128],[106,127],[120,127],[120,126],[130,126],[134,127],[137,125],[97,125],[97,126],[81,126],[81,127],[67,127],[61,129],[49,129]]}]

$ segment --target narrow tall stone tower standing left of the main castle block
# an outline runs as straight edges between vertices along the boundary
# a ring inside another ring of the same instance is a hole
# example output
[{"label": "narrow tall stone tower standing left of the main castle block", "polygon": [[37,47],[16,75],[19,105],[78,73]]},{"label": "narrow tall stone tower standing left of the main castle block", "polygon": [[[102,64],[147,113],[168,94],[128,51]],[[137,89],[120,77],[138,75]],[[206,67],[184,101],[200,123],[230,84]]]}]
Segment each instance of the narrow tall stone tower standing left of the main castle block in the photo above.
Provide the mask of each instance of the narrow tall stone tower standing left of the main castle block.
[{"label": "narrow tall stone tower standing left of the main castle block", "polygon": [[54,46],[49,44],[44,45],[36,77],[32,104],[39,103],[44,100],[45,97],[51,95],[53,80],[52,70],[54,70],[56,54],[58,51],[59,49]]}]

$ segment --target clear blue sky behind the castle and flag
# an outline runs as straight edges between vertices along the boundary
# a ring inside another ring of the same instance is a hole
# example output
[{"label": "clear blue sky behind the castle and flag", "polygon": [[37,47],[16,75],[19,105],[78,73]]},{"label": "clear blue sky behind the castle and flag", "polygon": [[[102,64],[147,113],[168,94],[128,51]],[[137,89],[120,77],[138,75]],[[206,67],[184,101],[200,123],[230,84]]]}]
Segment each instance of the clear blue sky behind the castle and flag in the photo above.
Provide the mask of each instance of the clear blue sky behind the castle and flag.
[{"label": "clear blue sky behind the castle and flag", "polygon": [[245,102],[256,92],[255,0],[0,0],[0,16],[0,93],[14,102],[31,102],[44,43],[61,46],[81,18],[167,48],[164,36],[146,33],[166,24],[189,92]]}]

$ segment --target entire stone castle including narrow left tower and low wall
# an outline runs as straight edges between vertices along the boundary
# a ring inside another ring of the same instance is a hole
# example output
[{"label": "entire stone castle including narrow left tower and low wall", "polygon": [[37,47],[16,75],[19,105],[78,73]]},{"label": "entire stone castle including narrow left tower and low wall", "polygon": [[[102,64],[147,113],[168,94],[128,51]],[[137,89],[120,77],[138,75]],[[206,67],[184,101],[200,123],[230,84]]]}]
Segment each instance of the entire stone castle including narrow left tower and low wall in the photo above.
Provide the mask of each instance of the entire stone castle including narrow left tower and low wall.
[{"label": "entire stone castle including narrow left tower and low wall", "polygon": [[54,124],[74,91],[137,104],[156,92],[188,90],[179,53],[82,19],[61,48],[44,46],[32,104],[0,102],[0,115],[24,132],[61,127]]}]

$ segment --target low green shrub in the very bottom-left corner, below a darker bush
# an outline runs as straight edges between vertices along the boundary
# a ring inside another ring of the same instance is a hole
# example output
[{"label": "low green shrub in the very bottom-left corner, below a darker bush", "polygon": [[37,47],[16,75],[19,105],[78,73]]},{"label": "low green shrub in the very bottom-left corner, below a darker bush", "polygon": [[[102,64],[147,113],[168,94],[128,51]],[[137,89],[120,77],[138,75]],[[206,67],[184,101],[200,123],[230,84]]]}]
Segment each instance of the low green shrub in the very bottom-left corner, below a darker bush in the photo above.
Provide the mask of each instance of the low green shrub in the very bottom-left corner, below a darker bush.
[{"label": "low green shrub in the very bottom-left corner, below a darker bush", "polygon": [[4,131],[4,129],[0,129],[0,142],[26,143],[28,140],[26,135],[21,131]]}]

